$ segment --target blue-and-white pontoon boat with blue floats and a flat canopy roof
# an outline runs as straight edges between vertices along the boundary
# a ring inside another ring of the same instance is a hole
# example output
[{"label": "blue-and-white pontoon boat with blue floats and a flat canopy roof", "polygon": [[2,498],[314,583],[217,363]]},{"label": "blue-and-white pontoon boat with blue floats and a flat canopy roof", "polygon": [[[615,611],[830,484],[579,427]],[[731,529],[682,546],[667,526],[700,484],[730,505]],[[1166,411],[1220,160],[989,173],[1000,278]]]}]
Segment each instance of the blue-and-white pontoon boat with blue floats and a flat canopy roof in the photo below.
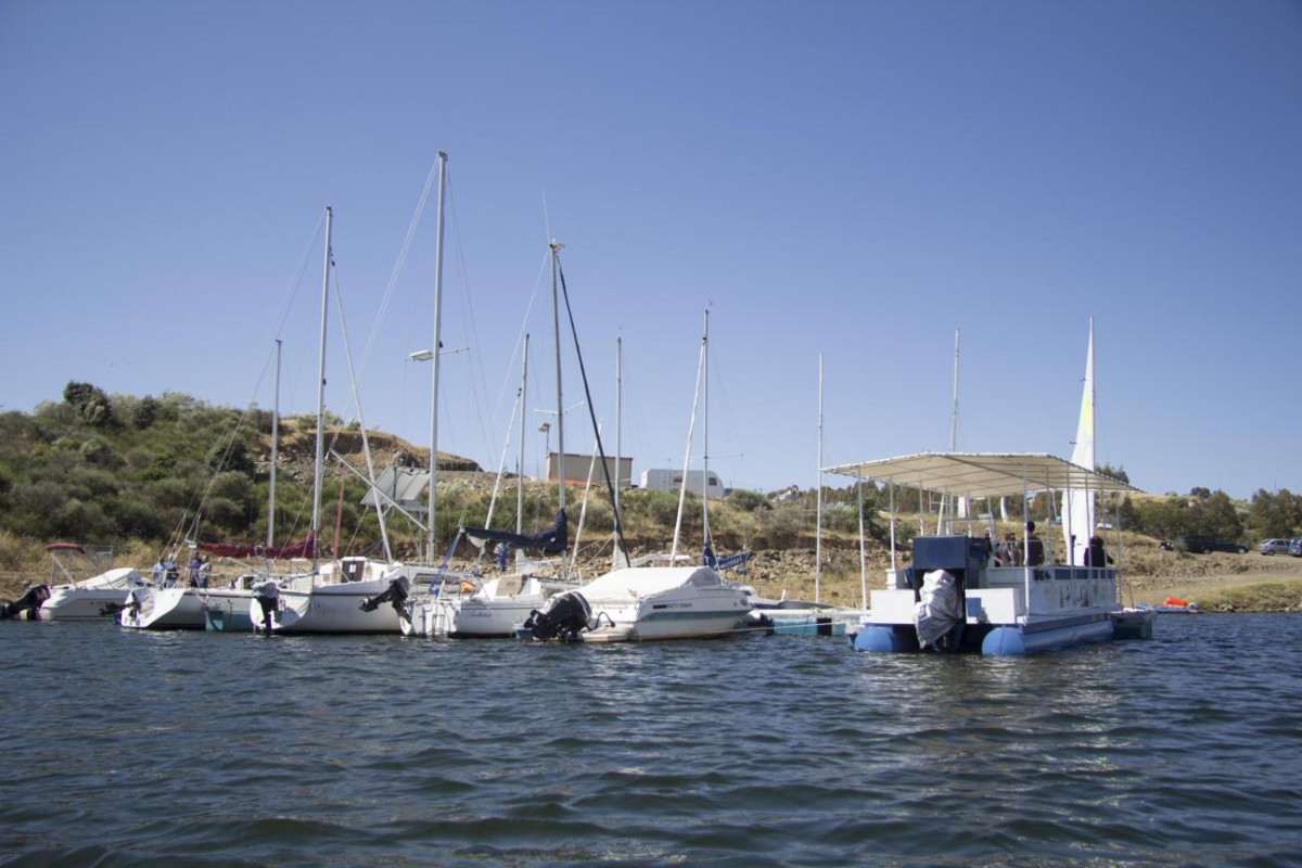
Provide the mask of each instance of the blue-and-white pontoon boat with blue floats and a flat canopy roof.
[{"label": "blue-and-white pontoon boat with blue floats and a flat canopy roof", "polygon": [[[1088,364],[1092,366],[1092,341]],[[1091,377],[1092,379],[1092,377]],[[1082,414],[1090,416],[1087,389]],[[891,491],[892,569],[872,591],[871,612],[854,639],[867,652],[918,649],[1025,655],[1115,638],[1151,635],[1151,617],[1122,609],[1117,570],[1055,563],[1027,522],[1017,558],[999,563],[988,540],[941,527],[913,540],[913,563],[896,565],[894,487],[945,498],[1021,495],[1029,511],[1038,492],[1129,492],[1128,483],[1075,462],[1031,453],[921,453],[831,467],[831,472],[884,483]],[[921,518],[919,518],[921,521]],[[1148,618],[1144,621],[1144,618]]]}]

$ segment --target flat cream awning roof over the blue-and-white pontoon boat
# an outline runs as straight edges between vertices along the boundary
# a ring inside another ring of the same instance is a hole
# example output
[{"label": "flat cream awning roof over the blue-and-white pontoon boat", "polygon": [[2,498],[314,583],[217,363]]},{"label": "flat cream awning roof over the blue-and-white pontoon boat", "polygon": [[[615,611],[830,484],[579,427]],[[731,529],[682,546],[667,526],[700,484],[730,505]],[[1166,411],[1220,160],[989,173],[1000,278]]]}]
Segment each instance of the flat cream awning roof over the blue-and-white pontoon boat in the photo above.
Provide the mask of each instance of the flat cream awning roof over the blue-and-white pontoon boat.
[{"label": "flat cream awning roof over the blue-and-white pontoon boat", "polygon": [[1023,491],[1138,491],[1053,455],[1030,453],[932,453],[828,467],[828,472],[962,497],[1005,497]]}]

